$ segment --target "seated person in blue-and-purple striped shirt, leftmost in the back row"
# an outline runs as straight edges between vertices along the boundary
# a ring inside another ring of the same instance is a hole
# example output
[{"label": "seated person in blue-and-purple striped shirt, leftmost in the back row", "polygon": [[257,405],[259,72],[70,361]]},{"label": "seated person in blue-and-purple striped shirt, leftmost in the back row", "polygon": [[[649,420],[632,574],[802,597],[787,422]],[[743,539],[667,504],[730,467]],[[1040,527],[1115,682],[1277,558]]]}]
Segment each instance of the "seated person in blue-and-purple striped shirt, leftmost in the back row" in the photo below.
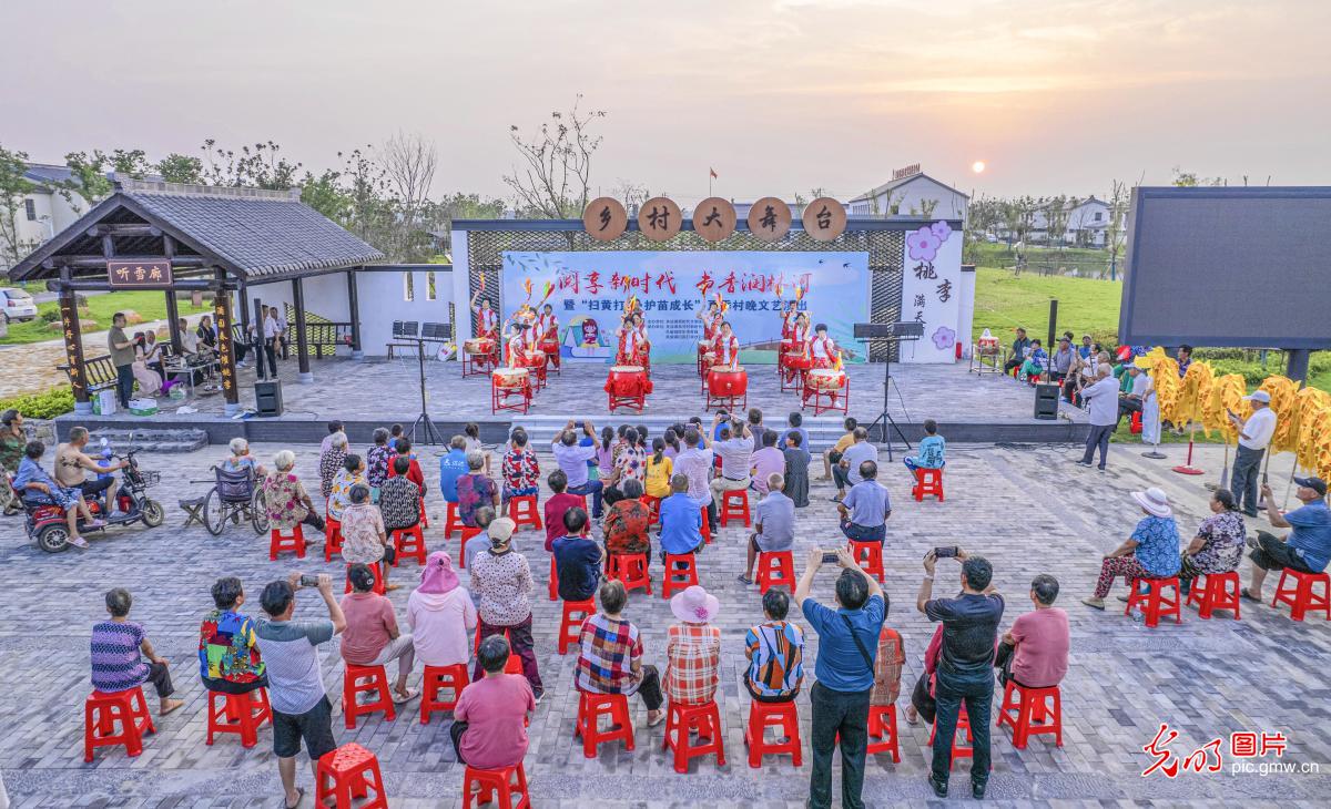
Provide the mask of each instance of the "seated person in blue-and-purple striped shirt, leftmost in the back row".
[{"label": "seated person in blue-and-purple striped shirt, leftmost in the back row", "polygon": [[170,683],[170,661],[153,649],[144,625],[129,620],[132,604],[128,589],[106,591],[110,620],[92,628],[92,687],[102,693],[118,693],[152,683],[157,689],[157,712],[166,716],[185,703],[170,699],[176,692]]}]

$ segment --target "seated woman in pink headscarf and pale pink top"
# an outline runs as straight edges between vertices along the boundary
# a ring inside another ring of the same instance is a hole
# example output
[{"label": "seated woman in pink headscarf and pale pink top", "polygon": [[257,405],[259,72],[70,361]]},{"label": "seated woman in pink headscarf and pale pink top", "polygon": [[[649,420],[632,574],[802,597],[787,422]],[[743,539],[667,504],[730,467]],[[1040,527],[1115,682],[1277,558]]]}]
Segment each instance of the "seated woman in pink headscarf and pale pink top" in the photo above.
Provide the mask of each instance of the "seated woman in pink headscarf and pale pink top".
[{"label": "seated woman in pink headscarf and pale pink top", "polygon": [[471,659],[476,608],[471,593],[458,583],[446,551],[435,551],[426,559],[421,587],[407,599],[407,624],[417,659],[425,665],[466,665]]}]

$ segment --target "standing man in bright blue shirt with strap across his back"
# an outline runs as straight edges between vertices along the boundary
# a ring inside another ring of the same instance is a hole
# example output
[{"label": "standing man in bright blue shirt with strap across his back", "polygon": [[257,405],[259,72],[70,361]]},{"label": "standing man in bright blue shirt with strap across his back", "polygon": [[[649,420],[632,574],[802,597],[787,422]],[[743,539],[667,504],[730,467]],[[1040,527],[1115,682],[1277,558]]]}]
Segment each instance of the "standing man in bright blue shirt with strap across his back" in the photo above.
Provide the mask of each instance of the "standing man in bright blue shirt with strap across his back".
[{"label": "standing man in bright blue shirt with strap across his back", "polygon": [[864,754],[868,745],[869,696],[873,691],[873,659],[878,633],[888,615],[888,597],[878,583],[864,573],[845,548],[836,551],[841,575],[836,580],[836,609],[809,597],[813,577],[823,567],[821,548],[809,551],[804,575],[795,587],[795,600],[804,620],[819,633],[819,657],[813,667],[817,683],[809,691],[813,707],[813,773],[809,802],[813,809],[832,806],[832,749],[841,734],[841,805],[862,809]]}]

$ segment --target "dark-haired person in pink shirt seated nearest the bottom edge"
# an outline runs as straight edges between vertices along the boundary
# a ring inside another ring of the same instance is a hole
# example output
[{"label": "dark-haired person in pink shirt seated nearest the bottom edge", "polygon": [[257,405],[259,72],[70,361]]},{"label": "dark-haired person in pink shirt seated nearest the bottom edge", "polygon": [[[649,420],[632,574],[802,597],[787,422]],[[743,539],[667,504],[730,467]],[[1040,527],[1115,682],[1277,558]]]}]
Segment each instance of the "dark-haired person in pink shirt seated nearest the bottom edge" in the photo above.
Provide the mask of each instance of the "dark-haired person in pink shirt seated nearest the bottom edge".
[{"label": "dark-haired person in pink shirt seated nearest the bottom edge", "polygon": [[527,754],[527,723],[536,697],[524,679],[506,675],[508,641],[491,635],[480,641],[476,668],[484,672],[462,689],[453,709],[453,749],[458,761],[476,769],[503,769],[522,764]]}]

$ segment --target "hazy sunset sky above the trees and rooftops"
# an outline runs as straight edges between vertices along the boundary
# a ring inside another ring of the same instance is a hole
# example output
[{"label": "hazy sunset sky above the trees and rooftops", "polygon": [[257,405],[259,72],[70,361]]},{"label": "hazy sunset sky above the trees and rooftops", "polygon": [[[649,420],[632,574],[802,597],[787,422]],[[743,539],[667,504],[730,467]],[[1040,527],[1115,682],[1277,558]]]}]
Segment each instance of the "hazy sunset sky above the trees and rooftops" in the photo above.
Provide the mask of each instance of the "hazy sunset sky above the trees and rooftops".
[{"label": "hazy sunset sky above the trees and rooftops", "polygon": [[508,125],[580,92],[607,193],[693,201],[711,166],[736,200],[845,200],[912,162],[998,196],[1331,185],[1320,0],[79,0],[4,3],[0,31],[0,145],[48,162],[213,137],[322,169],[401,129],[437,192],[499,196]]}]

